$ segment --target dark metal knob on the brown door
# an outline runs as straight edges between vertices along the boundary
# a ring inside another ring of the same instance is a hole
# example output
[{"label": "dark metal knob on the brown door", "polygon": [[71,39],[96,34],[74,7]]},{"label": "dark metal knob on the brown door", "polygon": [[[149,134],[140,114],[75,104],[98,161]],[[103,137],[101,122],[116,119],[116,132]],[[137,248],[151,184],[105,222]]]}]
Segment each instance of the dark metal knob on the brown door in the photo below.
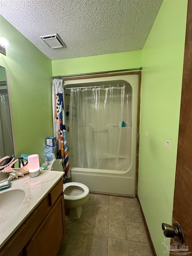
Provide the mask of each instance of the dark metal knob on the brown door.
[{"label": "dark metal knob on the brown door", "polygon": [[179,238],[179,242],[183,242],[183,232],[178,223],[174,222],[173,227],[167,223],[162,223],[162,229],[164,236],[166,237],[174,237],[177,236]]}]

